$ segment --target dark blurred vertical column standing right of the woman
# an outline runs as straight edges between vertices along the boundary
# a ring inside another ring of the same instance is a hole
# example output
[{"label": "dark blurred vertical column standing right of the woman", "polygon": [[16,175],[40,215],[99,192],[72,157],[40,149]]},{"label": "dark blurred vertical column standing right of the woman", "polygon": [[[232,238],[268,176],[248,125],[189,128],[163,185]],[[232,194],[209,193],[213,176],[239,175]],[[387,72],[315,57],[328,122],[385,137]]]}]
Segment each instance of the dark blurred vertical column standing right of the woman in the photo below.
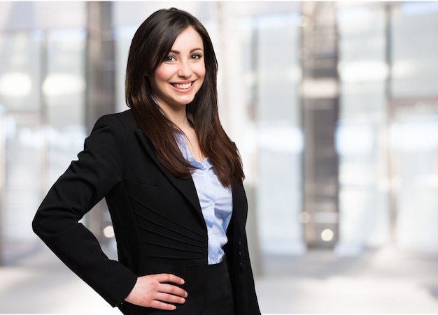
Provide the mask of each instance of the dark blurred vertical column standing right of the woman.
[{"label": "dark blurred vertical column standing right of the woman", "polygon": [[309,248],[332,248],[338,231],[337,23],[333,2],[304,1],[302,22],[302,114],[304,147],[304,239]]}]

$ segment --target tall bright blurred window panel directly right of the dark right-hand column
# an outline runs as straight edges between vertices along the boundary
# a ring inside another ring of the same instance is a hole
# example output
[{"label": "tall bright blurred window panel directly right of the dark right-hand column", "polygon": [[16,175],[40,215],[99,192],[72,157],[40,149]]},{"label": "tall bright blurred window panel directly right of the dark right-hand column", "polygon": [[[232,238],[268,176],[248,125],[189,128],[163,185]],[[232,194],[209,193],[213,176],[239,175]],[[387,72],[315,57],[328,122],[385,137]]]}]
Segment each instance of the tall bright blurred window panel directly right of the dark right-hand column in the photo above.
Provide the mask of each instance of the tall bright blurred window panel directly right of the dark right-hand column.
[{"label": "tall bright blurred window panel directly right of the dark right-hand column", "polygon": [[389,237],[385,16],[382,5],[339,4],[339,251]]}]

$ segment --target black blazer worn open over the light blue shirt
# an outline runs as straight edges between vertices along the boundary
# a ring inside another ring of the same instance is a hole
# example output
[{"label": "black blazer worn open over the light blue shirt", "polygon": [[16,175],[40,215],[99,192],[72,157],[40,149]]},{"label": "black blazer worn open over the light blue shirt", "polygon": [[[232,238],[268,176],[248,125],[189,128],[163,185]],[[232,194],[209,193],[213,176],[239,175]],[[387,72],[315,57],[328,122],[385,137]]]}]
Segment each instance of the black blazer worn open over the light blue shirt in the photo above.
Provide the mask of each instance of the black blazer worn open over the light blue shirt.
[{"label": "black blazer worn open over the light blue shirt", "polygon": [[[233,214],[225,256],[236,314],[257,315],[246,240],[248,205],[232,186]],[[118,247],[108,259],[80,219],[106,198]],[[189,296],[172,314],[201,314],[206,293],[207,233],[192,179],[171,175],[137,126],[131,110],[101,117],[78,160],[52,186],[36,212],[35,233],[113,307],[125,314],[164,314],[124,302],[138,276],[169,272]]]}]

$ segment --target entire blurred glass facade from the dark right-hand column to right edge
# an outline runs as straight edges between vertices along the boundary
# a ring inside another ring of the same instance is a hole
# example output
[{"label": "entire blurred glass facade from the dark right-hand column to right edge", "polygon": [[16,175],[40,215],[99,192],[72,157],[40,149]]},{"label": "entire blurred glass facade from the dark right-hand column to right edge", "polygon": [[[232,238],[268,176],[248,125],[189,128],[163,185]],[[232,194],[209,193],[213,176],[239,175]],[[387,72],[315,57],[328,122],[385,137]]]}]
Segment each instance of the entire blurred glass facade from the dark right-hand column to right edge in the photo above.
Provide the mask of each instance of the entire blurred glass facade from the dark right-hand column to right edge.
[{"label": "entire blurred glass facade from the dark right-hand column to right edge", "polygon": [[339,6],[340,251],[435,249],[437,10]]}]

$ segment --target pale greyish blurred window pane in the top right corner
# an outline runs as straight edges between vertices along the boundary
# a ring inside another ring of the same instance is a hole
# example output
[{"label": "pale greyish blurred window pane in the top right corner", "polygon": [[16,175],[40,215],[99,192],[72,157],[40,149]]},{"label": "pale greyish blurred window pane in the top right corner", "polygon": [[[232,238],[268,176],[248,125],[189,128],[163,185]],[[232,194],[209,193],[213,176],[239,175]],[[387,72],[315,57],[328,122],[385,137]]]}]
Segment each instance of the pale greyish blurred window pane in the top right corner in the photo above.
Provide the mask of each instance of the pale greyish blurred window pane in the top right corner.
[{"label": "pale greyish blurred window pane in the top right corner", "polygon": [[393,97],[437,96],[438,2],[400,3],[392,20]]}]

